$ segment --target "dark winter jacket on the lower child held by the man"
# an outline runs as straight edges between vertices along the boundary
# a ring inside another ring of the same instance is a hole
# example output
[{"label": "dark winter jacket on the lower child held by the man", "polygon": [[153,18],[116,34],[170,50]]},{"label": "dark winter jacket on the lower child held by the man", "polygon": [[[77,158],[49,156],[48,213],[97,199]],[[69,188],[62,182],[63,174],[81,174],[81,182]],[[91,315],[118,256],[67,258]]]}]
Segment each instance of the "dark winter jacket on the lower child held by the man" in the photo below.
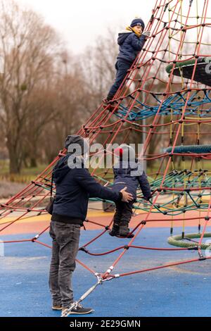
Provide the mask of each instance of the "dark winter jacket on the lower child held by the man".
[{"label": "dark winter jacket on the lower child held by the man", "polygon": [[119,192],[124,187],[127,187],[127,192],[131,193],[134,200],[136,200],[136,191],[140,185],[143,196],[146,199],[151,197],[151,186],[138,161],[131,161],[130,163],[128,161],[120,161],[116,167],[118,168],[113,167],[115,181],[112,189],[114,192]]}]

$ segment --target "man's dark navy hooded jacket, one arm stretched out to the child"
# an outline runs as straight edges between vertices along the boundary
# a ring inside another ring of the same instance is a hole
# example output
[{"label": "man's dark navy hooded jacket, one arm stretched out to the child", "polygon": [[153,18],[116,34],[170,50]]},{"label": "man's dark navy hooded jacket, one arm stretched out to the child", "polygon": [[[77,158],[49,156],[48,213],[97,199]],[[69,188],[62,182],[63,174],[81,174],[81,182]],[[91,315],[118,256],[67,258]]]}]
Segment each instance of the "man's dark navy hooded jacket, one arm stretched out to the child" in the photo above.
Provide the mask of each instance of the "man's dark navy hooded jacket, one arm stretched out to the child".
[{"label": "man's dark navy hooded jacket, one arm stretched out to the child", "polygon": [[121,201],[122,193],[113,192],[98,184],[86,168],[69,168],[69,156],[61,158],[53,168],[56,200],[53,203],[51,220],[82,225],[87,217],[89,198],[97,197],[117,202]]}]

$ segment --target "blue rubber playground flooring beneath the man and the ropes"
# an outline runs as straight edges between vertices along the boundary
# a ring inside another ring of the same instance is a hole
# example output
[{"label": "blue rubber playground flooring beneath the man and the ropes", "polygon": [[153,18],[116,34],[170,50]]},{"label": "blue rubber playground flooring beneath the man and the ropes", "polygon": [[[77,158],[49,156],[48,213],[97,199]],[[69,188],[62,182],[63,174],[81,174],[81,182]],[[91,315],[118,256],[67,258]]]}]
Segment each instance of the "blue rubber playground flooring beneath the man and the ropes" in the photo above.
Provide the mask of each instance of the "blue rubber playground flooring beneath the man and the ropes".
[{"label": "blue rubber playground flooring beneath the man and the ropes", "polygon": [[[180,233],[180,230],[177,229],[177,232]],[[196,228],[188,228],[188,232],[196,232]],[[81,246],[98,233],[96,230],[82,231]],[[169,233],[168,228],[145,229],[134,244],[173,248],[167,244]],[[33,236],[15,235],[0,239],[30,239]],[[48,233],[42,235],[40,241],[51,244]],[[127,242],[128,239],[105,234],[91,244],[89,250],[101,253]],[[97,272],[104,272],[120,252],[95,257],[80,251],[77,258]],[[51,311],[48,287],[50,258],[51,250],[36,243],[5,244],[5,256],[0,258],[1,317],[60,316],[60,312]],[[189,258],[198,258],[198,253],[129,249],[113,274]],[[211,316],[210,276],[210,260],[129,275],[99,285],[83,304],[95,309],[92,317]],[[79,299],[95,283],[96,277],[77,265],[73,275],[75,299]]]}]

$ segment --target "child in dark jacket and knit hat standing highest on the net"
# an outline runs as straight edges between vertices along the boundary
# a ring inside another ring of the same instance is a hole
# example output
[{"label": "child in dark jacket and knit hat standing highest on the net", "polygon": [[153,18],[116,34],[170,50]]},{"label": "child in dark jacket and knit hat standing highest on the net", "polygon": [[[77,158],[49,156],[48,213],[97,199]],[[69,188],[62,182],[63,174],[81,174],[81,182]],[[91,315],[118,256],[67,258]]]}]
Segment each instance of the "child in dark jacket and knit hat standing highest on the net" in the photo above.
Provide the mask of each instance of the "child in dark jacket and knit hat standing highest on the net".
[{"label": "child in dark jacket and knit hat standing highest on the net", "polygon": [[135,18],[132,20],[131,25],[119,34],[117,42],[120,45],[120,52],[117,56],[117,63],[115,64],[117,75],[105,102],[113,99],[124,77],[127,75],[127,70],[131,68],[139,51],[143,49],[146,38],[150,36],[149,31],[143,32],[144,27],[143,20],[141,18]]}]

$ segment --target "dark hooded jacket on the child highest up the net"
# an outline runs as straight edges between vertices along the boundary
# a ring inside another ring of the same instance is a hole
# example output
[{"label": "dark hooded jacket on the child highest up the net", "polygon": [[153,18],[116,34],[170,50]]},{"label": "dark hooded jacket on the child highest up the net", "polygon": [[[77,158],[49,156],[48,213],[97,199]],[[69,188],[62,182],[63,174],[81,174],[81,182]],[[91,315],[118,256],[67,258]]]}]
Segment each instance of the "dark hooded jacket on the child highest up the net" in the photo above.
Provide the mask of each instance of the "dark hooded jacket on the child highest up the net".
[{"label": "dark hooded jacket on the child highest up the net", "polygon": [[125,30],[119,33],[118,44],[120,45],[120,53],[117,60],[124,60],[133,63],[139,51],[143,49],[146,37],[141,35],[138,37],[134,32]]}]

